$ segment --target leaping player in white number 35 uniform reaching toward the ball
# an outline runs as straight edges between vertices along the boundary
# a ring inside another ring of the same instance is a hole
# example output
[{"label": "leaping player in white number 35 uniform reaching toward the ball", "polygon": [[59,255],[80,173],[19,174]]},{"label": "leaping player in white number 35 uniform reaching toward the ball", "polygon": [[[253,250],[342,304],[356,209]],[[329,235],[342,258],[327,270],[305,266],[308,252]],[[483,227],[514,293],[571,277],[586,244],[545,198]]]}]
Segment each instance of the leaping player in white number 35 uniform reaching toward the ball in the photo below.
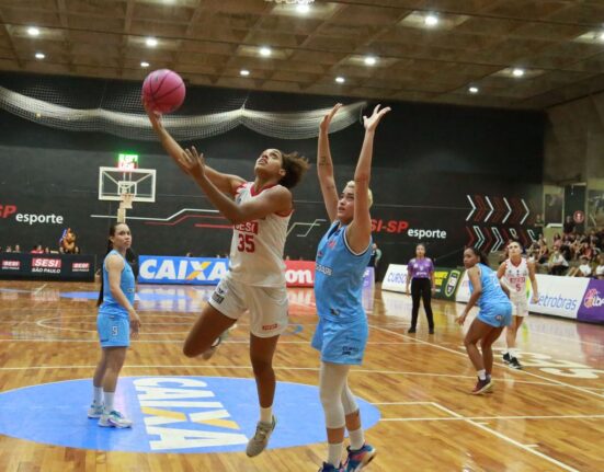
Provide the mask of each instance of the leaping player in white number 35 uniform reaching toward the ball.
[{"label": "leaping player in white number 35 uniform reaching toward the ball", "polygon": [[[260,421],[248,442],[247,454],[261,453],[276,421],[273,415],[275,372],[273,356],[287,326],[287,292],[283,250],[293,211],[289,188],[308,169],[306,159],[266,149],[257,159],[254,182],[223,174],[205,165],[195,148],[183,150],[163,128],[160,116],[147,114],[163,148],[232,222],[230,267],[184,342],[186,357],[209,358],[225,333],[250,311],[250,359],[253,367]],[[231,196],[232,198],[230,198]]]}]

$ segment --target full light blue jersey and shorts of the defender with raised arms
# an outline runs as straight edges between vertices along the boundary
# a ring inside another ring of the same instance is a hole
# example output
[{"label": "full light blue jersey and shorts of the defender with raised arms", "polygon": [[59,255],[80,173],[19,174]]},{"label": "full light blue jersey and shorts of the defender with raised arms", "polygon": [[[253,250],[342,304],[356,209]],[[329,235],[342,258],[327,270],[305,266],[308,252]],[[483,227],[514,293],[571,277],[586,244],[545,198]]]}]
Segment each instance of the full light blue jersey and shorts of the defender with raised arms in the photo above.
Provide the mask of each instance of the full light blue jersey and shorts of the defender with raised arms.
[{"label": "full light blue jersey and shorts of the defender with raised arms", "polygon": [[334,222],[323,235],[315,267],[315,301],[319,323],[312,347],[324,362],[360,365],[368,337],[362,304],[363,276],[372,252],[355,254],[349,246],[346,226]]}]

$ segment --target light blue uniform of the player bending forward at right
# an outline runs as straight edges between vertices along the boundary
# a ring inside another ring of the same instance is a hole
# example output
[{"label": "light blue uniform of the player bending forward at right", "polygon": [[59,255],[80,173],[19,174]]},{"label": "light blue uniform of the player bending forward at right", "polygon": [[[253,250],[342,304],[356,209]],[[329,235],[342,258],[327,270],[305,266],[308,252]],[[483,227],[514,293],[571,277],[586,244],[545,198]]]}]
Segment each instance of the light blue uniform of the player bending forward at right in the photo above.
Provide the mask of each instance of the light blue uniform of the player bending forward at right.
[{"label": "light blue uniform of the player bending forward at right", "polygon": [[[485,264],[477,264],[480,269],[480,285],[482,293],[477,301],[480,308],[478,319],[492,326],[506,326],[512,321],[512,303],[501,288],[497,273]],[[469,284],[470,293],[474,286]]]}]

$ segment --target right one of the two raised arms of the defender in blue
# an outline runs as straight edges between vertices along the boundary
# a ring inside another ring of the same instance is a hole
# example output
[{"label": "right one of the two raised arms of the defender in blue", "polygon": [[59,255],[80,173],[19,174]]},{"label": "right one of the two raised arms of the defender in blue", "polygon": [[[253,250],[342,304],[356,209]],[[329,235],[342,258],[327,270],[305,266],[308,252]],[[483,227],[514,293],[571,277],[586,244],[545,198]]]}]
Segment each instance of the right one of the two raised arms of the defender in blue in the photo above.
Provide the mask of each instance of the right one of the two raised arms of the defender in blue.
[{"label": "right one of the two raised arms of the defender in blue", "polygon": [[390,111],[390,107],[379,110],[379,106],[377,105],[374,108],[372,116],[363,116],[365,139],[354,171],[354,218],[346,228],[346,239],[354,252],[365,251],[372,239],[369,181],[372,177],[374,136],[379,120]]}]

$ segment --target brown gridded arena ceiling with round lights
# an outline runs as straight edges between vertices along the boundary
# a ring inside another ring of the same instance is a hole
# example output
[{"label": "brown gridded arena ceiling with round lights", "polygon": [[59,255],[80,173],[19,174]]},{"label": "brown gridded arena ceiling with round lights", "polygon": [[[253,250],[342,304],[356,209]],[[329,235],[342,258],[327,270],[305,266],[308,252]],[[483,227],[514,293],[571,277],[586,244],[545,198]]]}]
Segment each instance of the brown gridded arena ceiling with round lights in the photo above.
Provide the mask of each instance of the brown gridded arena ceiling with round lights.
[{"label": "brown gridded arena ceiling with round lights", "polygon": [[537,110],[604,90],[604,0],[0,0],[0,23],[1,71]]}]

